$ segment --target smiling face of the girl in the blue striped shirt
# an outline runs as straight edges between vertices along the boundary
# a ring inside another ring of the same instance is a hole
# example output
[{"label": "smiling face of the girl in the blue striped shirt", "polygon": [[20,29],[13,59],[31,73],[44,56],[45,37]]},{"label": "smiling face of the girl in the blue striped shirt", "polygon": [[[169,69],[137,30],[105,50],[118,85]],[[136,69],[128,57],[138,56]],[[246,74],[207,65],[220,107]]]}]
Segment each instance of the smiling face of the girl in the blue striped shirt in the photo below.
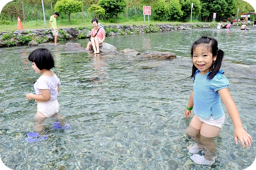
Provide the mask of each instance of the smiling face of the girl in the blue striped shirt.
[{"label": "smiling face of the girl in the blue striped shirt", "polygon": [[198,45],[193,50],[192,61],[195,67],[201,71],[201,75],[206,75],[210,71],[215,60],[216,56],[212,56],[207,44]]}]

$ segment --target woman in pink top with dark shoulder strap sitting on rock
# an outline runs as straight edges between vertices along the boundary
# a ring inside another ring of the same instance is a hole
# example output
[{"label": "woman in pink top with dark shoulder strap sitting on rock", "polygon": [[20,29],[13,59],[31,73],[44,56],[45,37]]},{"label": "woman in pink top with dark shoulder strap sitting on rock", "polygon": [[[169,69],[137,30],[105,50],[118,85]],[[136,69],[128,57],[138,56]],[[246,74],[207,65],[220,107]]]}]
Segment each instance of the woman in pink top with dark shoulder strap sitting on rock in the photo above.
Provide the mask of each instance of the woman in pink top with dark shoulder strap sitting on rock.
[{"label": "woman in pink top with dark shoulder strap sitting on rock", "polygon": [[93,29],[91,31],[90,41],[87,43],[87,50],[91,50],[93,48],[93,54],[99,54],[99,46],[102,46],[105,40],[105,33],[102,28],[98,27],[98,20],[93,18]]}]

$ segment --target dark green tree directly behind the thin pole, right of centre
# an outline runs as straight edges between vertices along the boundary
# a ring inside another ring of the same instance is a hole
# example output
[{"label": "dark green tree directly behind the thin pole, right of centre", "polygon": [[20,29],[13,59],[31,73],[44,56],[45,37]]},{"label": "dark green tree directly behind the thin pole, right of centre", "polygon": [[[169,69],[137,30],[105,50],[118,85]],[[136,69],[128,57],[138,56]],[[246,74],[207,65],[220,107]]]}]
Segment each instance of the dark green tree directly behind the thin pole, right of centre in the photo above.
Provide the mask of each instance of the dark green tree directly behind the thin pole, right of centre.
[{"label": "dark green tree directly behind the thin pole, right of centre", "polygon": [[183,11],[183,16],[181,17],[182,22],[187,17],[191,16],[191,4],[193,3],[192,15],[197,16],[201,12],[200,0],[180,0],[181,10]]}]

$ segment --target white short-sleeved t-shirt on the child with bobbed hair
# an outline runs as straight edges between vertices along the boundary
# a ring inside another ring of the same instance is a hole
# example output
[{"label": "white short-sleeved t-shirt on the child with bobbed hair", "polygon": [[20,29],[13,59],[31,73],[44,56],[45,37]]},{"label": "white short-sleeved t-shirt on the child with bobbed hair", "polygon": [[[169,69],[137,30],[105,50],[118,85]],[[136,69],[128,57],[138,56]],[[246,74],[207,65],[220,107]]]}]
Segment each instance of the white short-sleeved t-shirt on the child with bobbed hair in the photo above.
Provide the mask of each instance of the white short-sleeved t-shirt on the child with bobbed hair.
[{"label": "white short-sleeved t-shirt on the child with bobbed hair", "polygon": [[54,74],[52,77],[41,75],[34,84],[35,94],[41,95],[40,89],[49,89],[50,101],[52,101],[58,96],[58,84],[60,85],[61,82],[57,75]]}]

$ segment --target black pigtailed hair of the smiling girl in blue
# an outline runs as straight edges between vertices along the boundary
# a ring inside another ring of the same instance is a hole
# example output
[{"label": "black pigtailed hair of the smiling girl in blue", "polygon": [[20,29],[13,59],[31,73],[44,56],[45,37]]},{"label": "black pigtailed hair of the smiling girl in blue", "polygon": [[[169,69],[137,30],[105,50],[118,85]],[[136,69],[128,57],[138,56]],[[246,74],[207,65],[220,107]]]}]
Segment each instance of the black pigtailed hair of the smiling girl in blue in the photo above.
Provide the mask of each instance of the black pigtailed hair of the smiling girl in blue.
[{"label": "black pigtailed hair of the smiling girl in blue", "polygon": [[[215,38],[202,36],[201,38],[199,38],[198,40],[196,40],[192,44],[192,47],[191,47],[191,57],[192,57],[192,59],[193,59],[194,49],[198,45],[202,45],[202,44],[205,44],[205,45],[208,46],[208,50],[209,50],[209,52],[212,53],[212,57],[216,56],[216,60],[213,61],[212,66],[210,67],[211,72],[209,73],[209,75],[207,75],[207,79],[212,79],[212,78],[214,78],[214,76],[217,74],[217,72],[221,68],[222,60],[224,58],[224,52],[221,49],[218,49],[218,42]],[[193,64],[193,66],[192,66],[192,75],[191,75],[190,78],[194,78],[194,81],[195,81],[195,72],[196,72],[196,70],[197,70],[197,68]]]}]

